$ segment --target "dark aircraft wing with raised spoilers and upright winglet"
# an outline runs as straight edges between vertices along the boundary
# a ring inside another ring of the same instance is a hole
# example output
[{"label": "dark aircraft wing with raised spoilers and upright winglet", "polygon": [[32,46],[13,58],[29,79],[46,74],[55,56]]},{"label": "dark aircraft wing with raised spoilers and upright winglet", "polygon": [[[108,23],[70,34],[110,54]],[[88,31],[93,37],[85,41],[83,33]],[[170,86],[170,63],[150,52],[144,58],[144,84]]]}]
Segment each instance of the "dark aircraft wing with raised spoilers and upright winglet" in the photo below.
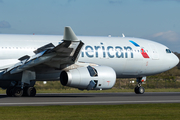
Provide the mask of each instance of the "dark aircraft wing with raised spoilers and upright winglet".
[{"label": "dark aircraft wing with raised spoilers and upright winglet", "polygon": [[19,58],[20,62],[4,71],[15,74],[32,69],[40,64],[59,68],[61,64],[73,64],[79,57],[84,43],[77,39],[70,27],[65,27],[63,42],[57,46],[52,43],[42,46],[34,51],[34,56],[25,55]]}]

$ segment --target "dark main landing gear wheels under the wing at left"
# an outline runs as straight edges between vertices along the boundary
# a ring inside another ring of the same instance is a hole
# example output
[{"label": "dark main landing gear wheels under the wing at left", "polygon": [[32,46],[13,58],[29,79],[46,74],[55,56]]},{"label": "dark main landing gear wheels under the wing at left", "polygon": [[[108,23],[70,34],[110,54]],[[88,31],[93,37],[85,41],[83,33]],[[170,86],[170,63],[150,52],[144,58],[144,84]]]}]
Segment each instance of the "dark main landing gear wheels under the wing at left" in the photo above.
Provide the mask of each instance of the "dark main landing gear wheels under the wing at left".
[{"label": "dark main landing gear wheels under the wing at left", "polygon": [[36,89],[34,87],[9,87],[6,90],[6,94],[9,97],[21,97],[21,96],[29,96],[34,97],[36,95]]}]

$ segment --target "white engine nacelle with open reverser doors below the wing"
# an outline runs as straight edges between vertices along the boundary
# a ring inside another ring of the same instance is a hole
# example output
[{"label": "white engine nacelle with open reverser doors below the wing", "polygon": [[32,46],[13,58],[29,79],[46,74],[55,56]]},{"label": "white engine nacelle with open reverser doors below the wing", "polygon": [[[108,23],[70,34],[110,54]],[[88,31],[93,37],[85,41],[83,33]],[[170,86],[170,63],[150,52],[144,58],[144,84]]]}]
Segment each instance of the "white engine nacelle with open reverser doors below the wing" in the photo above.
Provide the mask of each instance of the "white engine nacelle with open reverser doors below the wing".
[{"label": "white engine nacelle with open reverser doors below the wing", "polygon": [[88,66],[62,71],[61,84],[87,90],[110,89],[116,82],[115,71],[107,66]]}]

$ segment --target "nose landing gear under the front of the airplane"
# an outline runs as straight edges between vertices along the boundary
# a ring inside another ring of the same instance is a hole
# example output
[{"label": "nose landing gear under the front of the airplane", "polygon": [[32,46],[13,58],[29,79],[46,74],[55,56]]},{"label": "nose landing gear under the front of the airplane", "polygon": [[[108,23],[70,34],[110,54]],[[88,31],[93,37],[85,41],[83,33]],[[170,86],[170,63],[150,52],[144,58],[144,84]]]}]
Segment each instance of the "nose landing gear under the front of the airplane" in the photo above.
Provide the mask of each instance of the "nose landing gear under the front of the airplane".
[{"label": "nose landing gear under the front of the airplane", "polygon": [[146,77],[137,78],[137,86],[134,88],[136,94],[143,94],[145,92],[144,87],[141,86],[142,82],[146,81]]}]

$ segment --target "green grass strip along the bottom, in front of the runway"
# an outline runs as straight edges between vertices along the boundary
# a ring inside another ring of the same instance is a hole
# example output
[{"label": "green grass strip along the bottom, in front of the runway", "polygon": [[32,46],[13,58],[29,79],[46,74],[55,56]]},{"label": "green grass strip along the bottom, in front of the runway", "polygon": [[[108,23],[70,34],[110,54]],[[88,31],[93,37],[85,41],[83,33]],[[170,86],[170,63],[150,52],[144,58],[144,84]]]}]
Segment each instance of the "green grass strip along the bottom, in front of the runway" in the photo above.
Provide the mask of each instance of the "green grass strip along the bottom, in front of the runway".
[{"label": "green grass strip along the bottom, in front of the runway", "polygon": [[2,120],[176,120],[180,103],[0,107]]}]

